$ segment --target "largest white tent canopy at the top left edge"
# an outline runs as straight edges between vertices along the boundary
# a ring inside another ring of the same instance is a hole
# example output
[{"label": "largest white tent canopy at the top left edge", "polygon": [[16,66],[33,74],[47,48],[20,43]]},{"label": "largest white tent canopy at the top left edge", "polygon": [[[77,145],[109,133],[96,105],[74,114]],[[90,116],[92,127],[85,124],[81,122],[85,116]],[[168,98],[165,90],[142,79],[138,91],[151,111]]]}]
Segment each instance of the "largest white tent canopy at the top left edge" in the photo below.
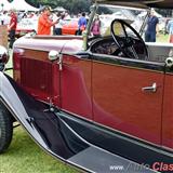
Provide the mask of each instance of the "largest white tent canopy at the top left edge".
[{"label": "largest white tent canopy at the top left edge", "polygon": [[37,8],[31,6],[25,0],[13,0],[11,2],[11,8],[16,11],[38,11]]}]

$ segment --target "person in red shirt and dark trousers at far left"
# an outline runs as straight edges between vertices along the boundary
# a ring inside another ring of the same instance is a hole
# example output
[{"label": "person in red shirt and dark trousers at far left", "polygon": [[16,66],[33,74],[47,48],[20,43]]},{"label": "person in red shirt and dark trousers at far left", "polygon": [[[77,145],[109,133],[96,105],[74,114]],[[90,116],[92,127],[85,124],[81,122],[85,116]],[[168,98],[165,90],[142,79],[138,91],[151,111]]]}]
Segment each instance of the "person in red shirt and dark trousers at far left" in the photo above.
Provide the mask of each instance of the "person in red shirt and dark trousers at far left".
[{"label": "person in red shirt and dark trousers at far left", "polygon": [[10,15],[11,15],[11,19],[10,19],[10,24],[9,24],[9,38],[10,38],[9,48],[12,49],[13,43],[15,41],[15,29],[17,26],[17,16],[15,14],[14,9],[10,10]]}]

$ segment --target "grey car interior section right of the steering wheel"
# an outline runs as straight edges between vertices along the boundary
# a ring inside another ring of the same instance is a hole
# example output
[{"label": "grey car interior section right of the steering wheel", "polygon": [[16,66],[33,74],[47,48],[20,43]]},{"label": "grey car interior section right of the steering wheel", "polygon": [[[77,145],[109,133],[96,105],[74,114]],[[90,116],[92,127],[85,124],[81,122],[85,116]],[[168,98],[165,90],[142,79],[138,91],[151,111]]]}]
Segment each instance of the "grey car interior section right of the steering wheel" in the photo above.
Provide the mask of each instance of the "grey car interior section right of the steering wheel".
[{"label": "grey car interior section right of the steering wheel", "polygon": [[171,43],[157,43],[157,42],[146,42],[149,61],[151,62],[164,62],[169,57],[173,44]]}]

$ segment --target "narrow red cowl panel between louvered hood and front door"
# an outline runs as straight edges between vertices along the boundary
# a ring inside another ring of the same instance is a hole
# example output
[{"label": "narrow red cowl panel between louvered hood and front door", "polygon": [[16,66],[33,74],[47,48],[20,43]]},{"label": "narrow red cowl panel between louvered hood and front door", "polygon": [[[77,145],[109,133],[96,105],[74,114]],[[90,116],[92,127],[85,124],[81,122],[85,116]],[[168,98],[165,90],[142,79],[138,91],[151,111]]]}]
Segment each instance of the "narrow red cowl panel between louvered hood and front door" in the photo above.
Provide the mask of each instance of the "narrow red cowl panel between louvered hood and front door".
[{"label": "narrow red cowl panel between louvered hood and front door", "polygon": [[75,55],[63,55],[61,72],[61,107],[63,110],[92,119],[90,59]]}]

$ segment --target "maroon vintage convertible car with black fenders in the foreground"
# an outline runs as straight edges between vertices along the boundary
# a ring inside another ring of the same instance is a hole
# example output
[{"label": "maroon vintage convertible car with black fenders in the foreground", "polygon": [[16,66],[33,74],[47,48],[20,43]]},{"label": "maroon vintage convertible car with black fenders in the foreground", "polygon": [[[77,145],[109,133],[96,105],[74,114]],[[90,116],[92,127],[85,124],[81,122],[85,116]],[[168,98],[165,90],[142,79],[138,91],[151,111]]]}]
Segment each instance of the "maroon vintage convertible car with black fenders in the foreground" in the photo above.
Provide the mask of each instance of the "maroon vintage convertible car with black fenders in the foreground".
[{"label": "maroon vintage convertible car with black fenders in the foreground", "polygon": [[[26,36],[13,79],[0,53],[0,152],[18,121],[50,155],[86,172],[173,172],[173,45],[143,41],[132,21],[97,38],[95,14],[172,8],[172,0],[97,0],[83,36]],[[148,13],[143,17],[147,21]]]}]

